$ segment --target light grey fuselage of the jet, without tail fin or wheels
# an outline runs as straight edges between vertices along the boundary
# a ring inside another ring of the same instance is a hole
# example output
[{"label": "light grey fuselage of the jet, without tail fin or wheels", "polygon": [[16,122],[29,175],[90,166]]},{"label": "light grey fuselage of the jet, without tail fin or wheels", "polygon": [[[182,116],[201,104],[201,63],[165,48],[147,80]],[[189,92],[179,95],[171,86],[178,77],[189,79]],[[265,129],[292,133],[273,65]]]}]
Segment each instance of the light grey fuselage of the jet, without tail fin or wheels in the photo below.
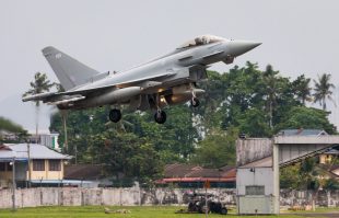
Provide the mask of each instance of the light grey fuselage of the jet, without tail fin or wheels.
[{"label": "light grey fuselage of the jet, without tail fin or wheels", "polygon": [[[246,41],[230,41],[217,36],[200,36],[174,51],[149,62],[126,71],[109,73],[102,79],[90,80],[87,83],[75,87],[70,91],[86,91],[92,89],[95,90],[97,87],[114,85],[113,89],[107,89],[105,92],[93,92],[85,100],[58,106],[59,108],[84,108],[104,104],[131,103],[130,96],[137,96],[137,99],[140,96],[139,99],[141,99],[142,94],[160,93],[164,95],[162,93],[166,90],[175,88],[177,88],[177,90],[183,90],[178,87],[182,84],[195,83],[207,77],[206,74],[197,76],[192,73],[192,70],[190,70],[192,67],[199,66],[206,69],[207,66],[219,61],[231,64],[236,56],[258,45],[258,43]],[[155,84],[148,87],[144,85],[145,81],[155,82]],[[140,90],[137,88],[140,88]],[[114,93],[117,92],[118,89],[121,89],[119,92],[121,92],[122,95],[126,94],[127,97],[118,97],[118,95]],[[188,89],[189,88],[186,87],[180,96],[186,96]],[[199,90],[197,90],[197,92],[199,92]],[[191,96],[191,94],[189,95]],[[101,96],[101,99],[97,99],[98,96]],[[182,99],[183,101],[187,101],[187,97]]]}]

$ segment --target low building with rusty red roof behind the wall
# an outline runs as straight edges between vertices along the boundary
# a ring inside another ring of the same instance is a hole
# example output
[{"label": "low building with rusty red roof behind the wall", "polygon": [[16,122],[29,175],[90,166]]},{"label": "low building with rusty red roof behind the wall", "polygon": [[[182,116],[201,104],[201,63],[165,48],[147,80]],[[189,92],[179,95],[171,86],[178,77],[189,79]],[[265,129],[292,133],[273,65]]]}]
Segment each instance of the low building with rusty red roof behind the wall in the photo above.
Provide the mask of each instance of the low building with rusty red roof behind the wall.
[{"label": "low building with rusty red roof behind the wall", "polygon": [[235,167],[223,167],[219,169],[207,169],[194,164],[174,163],[167,164],[164,177],[156,181],[163,185],[176,185],[179,187],[203,187],[209,181],[211,187],[235,187]]}]

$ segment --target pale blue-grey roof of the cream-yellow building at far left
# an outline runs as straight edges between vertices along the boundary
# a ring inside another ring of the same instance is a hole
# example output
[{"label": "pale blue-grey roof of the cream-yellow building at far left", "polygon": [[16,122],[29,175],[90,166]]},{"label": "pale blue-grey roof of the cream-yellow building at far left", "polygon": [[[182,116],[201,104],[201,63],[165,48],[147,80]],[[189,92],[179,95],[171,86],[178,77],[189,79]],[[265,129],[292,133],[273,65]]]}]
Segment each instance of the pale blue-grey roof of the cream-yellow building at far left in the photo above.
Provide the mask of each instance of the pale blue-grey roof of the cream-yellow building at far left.
[{"label": "pale blue-grey roof of the cream-yellow building at far left", "polygon": [[[0,159],[27,159],[27,144],[4,144],[0,149]],[[30,144],[31,159],[71,159],[70,156],[59,153],[46,146]]]}]

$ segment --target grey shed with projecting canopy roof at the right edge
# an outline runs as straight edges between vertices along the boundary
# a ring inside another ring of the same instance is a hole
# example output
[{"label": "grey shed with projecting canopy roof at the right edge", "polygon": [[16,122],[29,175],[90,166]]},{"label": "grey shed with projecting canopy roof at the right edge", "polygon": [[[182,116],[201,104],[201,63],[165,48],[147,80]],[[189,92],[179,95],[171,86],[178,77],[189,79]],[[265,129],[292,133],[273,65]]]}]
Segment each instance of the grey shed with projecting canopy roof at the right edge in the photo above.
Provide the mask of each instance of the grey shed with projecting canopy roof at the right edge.
[{"label": "grey shed with projecting canopy roof at the right edge", "polygon": [[236,141],[237,213],[278,215],[279,168],[317,156],[338,145],[339,136],[327,134],[239,138]]}]

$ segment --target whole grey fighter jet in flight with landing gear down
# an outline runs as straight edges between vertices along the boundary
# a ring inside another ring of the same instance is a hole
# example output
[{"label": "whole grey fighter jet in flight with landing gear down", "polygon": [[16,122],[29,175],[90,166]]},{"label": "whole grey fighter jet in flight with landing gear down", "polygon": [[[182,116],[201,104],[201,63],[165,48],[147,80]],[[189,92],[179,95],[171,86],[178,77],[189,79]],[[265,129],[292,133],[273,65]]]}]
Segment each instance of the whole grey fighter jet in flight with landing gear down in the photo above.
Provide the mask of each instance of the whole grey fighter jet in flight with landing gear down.
[{"label": "whole grey fighter jet in flight with landing gear down", "polygon": [[204,90],[196,87],[207,79],[207,68],[234,58],[261,43],[202,35],[178,46],[172,53],[121,72],[98,72],[51,46],[43,49],[65,92],[40,93],[22,99],[43,101],[59,110],[82,110],[110,105],[108,117],[121,119],[120,105],[133,110],[153,110],[157,124],[166,122],[164,107],[190,102],[199,105]]}]

